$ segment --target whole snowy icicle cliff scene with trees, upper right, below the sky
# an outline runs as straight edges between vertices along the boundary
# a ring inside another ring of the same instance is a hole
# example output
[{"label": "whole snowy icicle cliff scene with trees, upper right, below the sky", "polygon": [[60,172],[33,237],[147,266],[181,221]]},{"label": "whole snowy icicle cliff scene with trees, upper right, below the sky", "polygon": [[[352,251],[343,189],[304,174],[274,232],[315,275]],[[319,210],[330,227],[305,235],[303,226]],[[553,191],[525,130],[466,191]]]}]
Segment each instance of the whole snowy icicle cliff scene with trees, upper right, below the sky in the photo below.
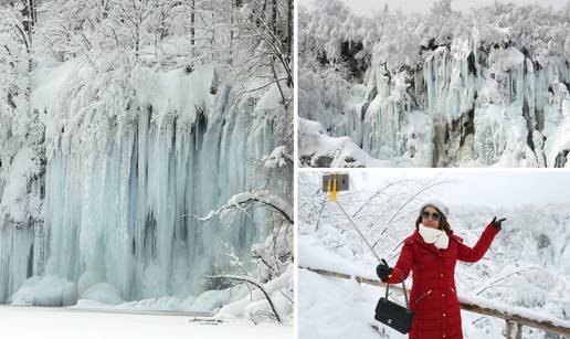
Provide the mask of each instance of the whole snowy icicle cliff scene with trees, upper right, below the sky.
[{"label": "whole snowy icicle cliff scene with trees, upper right, below the sky", "polygon": [[300,2],[300,163],[569,167],[570,2]]}]

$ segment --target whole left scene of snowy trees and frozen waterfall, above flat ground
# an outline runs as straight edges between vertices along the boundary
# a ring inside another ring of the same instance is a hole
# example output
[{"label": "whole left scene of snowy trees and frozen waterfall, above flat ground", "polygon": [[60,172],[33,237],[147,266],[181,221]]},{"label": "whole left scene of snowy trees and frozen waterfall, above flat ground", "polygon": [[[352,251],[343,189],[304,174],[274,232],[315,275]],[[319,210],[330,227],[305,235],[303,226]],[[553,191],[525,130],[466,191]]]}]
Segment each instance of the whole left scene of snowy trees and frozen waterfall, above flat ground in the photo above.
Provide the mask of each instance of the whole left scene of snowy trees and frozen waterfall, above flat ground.
[{"label": "whole left scene of snowy trees and frozen waterfall, above flat ground", "polygon": [[292,0],[2,1],[0,303],[289,324],[292,46]]}]

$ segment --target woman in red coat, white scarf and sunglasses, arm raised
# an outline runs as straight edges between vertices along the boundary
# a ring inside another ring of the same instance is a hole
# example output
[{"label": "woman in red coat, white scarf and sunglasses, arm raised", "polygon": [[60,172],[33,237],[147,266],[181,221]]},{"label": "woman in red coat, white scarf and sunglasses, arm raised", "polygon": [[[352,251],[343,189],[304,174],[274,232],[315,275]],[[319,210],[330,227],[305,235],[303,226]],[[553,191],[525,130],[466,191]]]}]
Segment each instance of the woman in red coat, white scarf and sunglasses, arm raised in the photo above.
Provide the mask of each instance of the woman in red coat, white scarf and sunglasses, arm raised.
[{"label": "woman in red coat, white scarf and sunglasses, arm raised", "polygon": [[471,248],[453,234],[447,215],[448,209],[441,202],[424,204],[415,221],[415,232],[404,240],[395,267],[387,264],[377,267],[380,279],[390,284],[401,283],[410,271],[413,273],[411,339],[463,338],[455,263],[481,259],[500,231],[500,223],[506,220],[494,218],[475,247]]}]

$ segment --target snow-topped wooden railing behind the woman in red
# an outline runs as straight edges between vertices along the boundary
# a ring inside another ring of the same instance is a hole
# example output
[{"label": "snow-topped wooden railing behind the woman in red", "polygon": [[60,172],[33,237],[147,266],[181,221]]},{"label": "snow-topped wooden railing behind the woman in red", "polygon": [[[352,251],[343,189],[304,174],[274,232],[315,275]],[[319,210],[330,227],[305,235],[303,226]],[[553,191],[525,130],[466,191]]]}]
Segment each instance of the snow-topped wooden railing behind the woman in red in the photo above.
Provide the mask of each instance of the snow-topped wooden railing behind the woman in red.
[{"label": "snow-topped wooden railing behind the woman in red", "polygon": [[[360,284],[368,284],[373,286],[380,286],[386,287],[386,284],[377,280],[377,279],[370,279],[359,276],[352,276],[345,273],[338,273],[338,272],[331,272],[327,269],[319,269],[319,268],[312,268],[312,267],[299,267],[302,269],[307,269],[315,272],[319,275],[335,277],[335,278],[341,278],[341,279],[353,279]],[[391,286],[390,289],[395,289],[402,293],[402,288],[398,286]],[[460,297],[460,304],[461,308],[464,310],[477,312],[485,316],[490,316],[495,318],[502,318],[505,319],[506,322],[506,338],[507,339],[521,339],[522,338],[522,326],[534,327],[538,328],[548,332],[561,335],[561,336],[570,336],[570,321],[550,321],[547,319],[532,319],[528,315],[525,315],[524,311],[517,310],[517,308],[504,308],[500,307],[487,307],[482,306],[473,301],[465,300],[464,298]]]}]

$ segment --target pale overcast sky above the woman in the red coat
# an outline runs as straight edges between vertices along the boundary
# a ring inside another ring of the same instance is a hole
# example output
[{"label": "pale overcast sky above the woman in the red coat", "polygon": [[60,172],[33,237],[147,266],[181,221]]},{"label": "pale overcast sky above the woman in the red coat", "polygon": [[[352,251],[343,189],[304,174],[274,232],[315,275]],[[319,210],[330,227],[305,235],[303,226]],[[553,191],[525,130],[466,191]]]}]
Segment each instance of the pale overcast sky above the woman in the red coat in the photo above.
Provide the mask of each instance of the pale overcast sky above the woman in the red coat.
[{"label": "pale overcast sky above the woman in the red coat", "polygon": [[510,208],[520,204],[570,204],[568,171],[377,169],[350,172],[351,190],[380,188],[386,180],[404,178],[453,180],[430,193],[430,198],[452,205],[468,203]]}]

